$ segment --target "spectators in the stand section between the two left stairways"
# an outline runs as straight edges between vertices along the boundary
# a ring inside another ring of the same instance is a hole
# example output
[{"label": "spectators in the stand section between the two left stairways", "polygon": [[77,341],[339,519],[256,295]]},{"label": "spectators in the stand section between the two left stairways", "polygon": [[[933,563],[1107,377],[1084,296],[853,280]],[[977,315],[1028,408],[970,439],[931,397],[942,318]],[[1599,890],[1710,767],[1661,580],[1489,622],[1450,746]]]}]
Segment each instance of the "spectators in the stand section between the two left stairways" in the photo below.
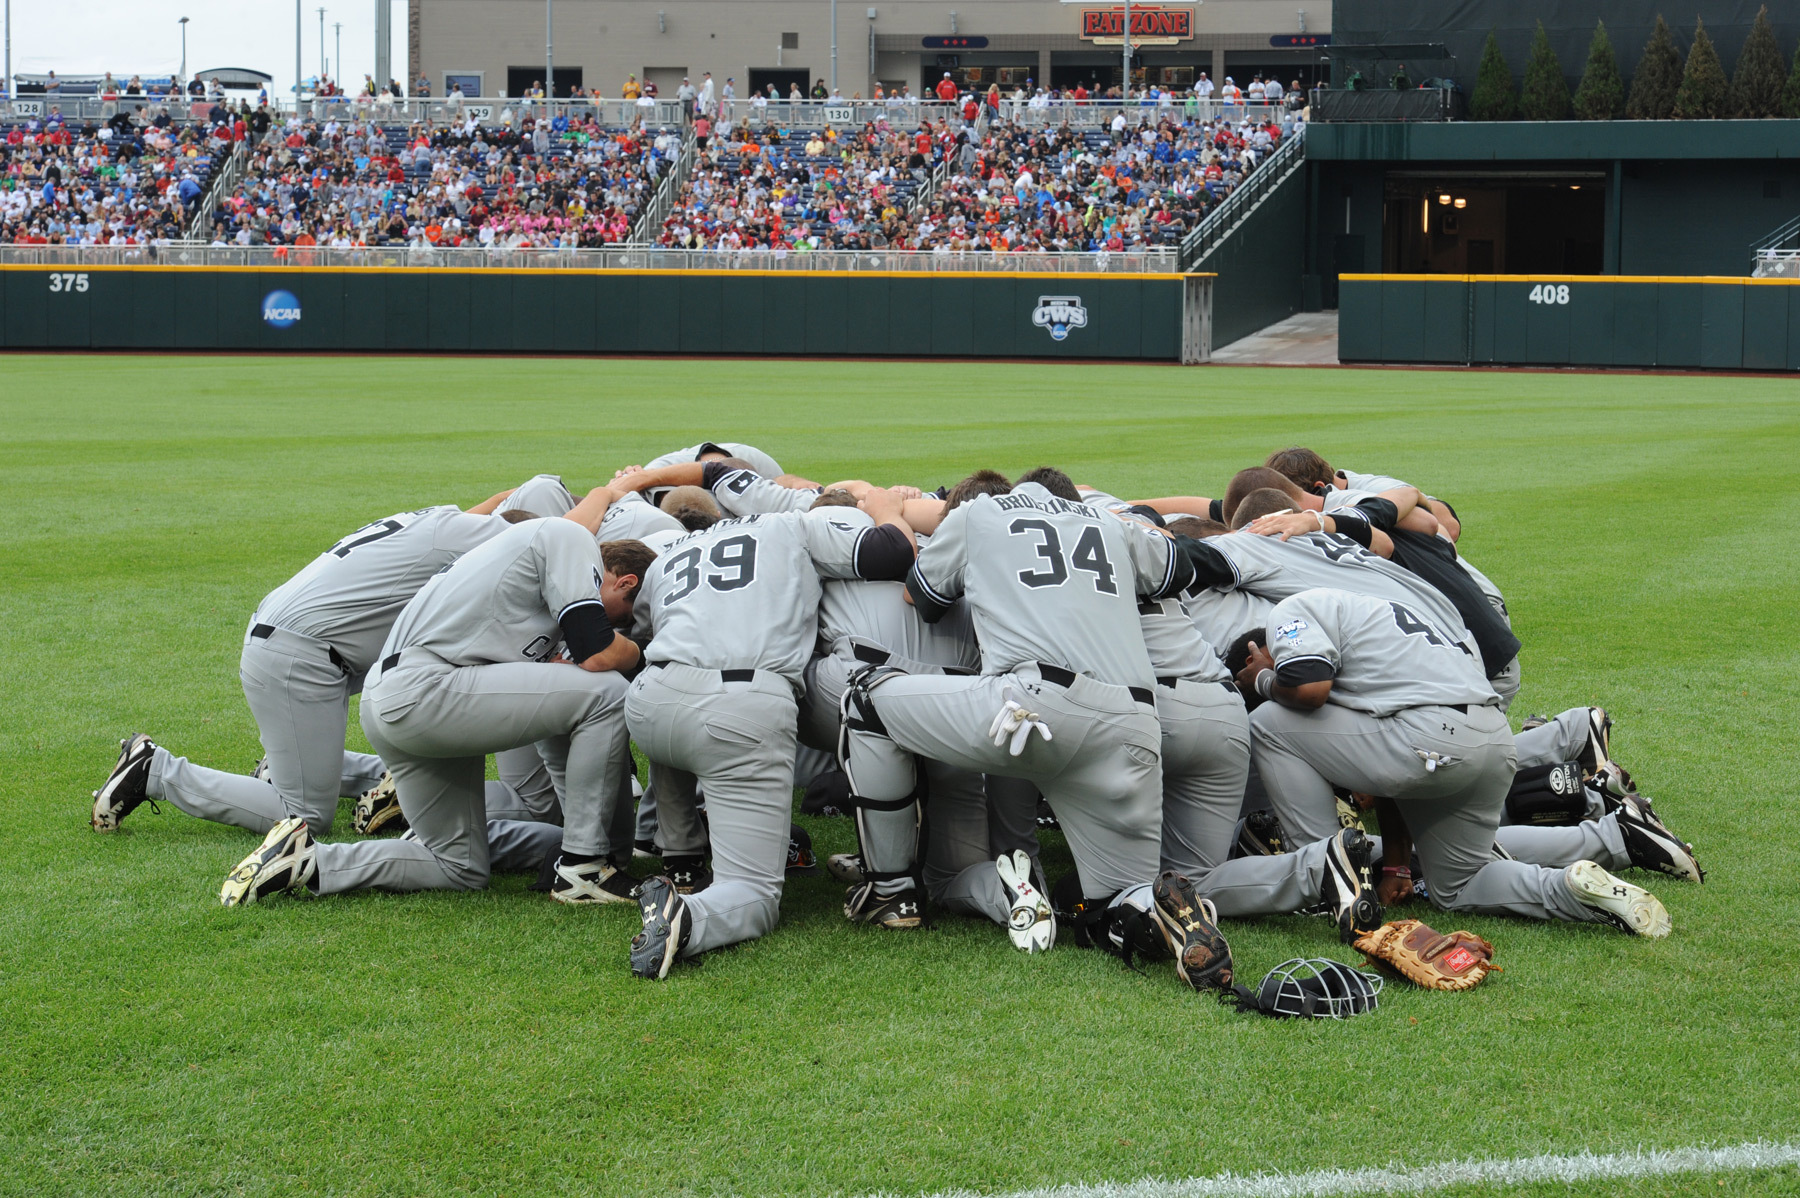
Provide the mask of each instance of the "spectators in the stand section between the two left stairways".
[{"label": "spectators in the stand section between the two left stairways", "polygon": [[295,122],[221,196],[223,245],[601,246],[625,241],[680,153],[673,131],[558,115],[517,126]]}]

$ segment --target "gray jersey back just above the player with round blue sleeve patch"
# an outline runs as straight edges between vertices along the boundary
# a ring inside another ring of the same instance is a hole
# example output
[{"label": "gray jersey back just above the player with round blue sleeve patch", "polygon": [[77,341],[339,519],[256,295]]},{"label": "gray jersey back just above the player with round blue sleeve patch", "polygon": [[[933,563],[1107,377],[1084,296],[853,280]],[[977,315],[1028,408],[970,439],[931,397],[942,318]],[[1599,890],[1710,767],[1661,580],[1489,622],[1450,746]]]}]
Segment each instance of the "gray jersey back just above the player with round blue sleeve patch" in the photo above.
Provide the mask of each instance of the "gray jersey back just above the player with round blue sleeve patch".
[{"label": "gray jersey back just above the player with round blue sleeve patch", "polygon": [[1348,536],[1307,532],[1283,541],[1240,531],[1201,543],[1226,559],[1233,588],[1255,592],[1264,599],[1280,603],[1314,586],[1348,590],[1408,604],[1451,642],[1471,637],[1462,613],[1444,592],[1411,570],[1372,554]]}]

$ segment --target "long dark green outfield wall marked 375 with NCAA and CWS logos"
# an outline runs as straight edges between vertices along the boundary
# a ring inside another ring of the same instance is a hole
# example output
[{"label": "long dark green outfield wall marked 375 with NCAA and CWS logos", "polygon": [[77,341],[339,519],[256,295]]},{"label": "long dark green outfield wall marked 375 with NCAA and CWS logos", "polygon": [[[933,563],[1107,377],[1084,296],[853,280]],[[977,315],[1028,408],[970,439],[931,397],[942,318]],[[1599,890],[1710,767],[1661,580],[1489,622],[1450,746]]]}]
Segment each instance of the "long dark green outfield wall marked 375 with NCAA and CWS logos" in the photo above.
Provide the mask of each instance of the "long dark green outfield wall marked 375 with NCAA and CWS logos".
[{"label": "long dark green outfield wall marked 375 with NCAA and CWS logos", "polygon": [[0,268],[4,349],[1204,362],[1210,275]]}]

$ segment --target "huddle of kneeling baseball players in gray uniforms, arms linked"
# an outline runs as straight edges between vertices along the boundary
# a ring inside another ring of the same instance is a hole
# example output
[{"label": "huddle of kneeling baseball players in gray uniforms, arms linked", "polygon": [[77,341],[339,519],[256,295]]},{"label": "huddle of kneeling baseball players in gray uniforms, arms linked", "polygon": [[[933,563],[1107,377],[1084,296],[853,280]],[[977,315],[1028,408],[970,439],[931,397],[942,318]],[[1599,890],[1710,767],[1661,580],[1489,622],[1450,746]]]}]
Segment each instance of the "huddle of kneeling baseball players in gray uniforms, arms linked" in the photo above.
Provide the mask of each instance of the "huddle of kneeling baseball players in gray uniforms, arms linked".
[{"label": "huddle of kneeling baseball players in gray uniforms, arms linked", "polygon": [[[270,592],[241,657],[254,773],[131,736],[92,826],[166,800],[261,833],[227,907],[538,871],[556,901],[637,903],[650,979],[776,926],[814,871],[796,786],[855,817],[828,862],[851,921],[972,916],[1195,989],[1231,982],[1228,917],[1352,939],[1429,898],[1667,935],[1615,871],[1701,881],[1692,845],[1606,711],[1512,732],[1519,640],[1460,536],[1447,502],[1301,448],[1219,498],[1053,468],[821,486],[736,443],[580,498],[538,475],[374,520]],[[356,693],[374,754],[344,745]],[[365,836],[320,842],[346,795]],[[1075,858],[1055,885],[1040,826]]]}]

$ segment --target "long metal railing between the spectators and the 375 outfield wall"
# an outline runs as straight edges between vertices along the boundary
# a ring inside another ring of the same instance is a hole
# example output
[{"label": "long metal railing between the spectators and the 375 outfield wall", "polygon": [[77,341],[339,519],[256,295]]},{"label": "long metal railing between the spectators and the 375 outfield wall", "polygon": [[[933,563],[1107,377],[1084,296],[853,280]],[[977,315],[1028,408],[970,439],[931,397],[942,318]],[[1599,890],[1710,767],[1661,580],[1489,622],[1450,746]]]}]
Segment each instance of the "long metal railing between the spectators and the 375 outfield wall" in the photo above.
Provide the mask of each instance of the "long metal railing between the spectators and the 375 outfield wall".
[{"label": "long metal railing between the spectators and the 375 outfield wall", "polygon": [[605,250],[475,246],[220,246],[164,245],[0,245],[0,266],[374,266],[387,270],[758,270],[886,273],[1174,273],[1172,248],[1096,254],[994,254],[985,250]]}]

